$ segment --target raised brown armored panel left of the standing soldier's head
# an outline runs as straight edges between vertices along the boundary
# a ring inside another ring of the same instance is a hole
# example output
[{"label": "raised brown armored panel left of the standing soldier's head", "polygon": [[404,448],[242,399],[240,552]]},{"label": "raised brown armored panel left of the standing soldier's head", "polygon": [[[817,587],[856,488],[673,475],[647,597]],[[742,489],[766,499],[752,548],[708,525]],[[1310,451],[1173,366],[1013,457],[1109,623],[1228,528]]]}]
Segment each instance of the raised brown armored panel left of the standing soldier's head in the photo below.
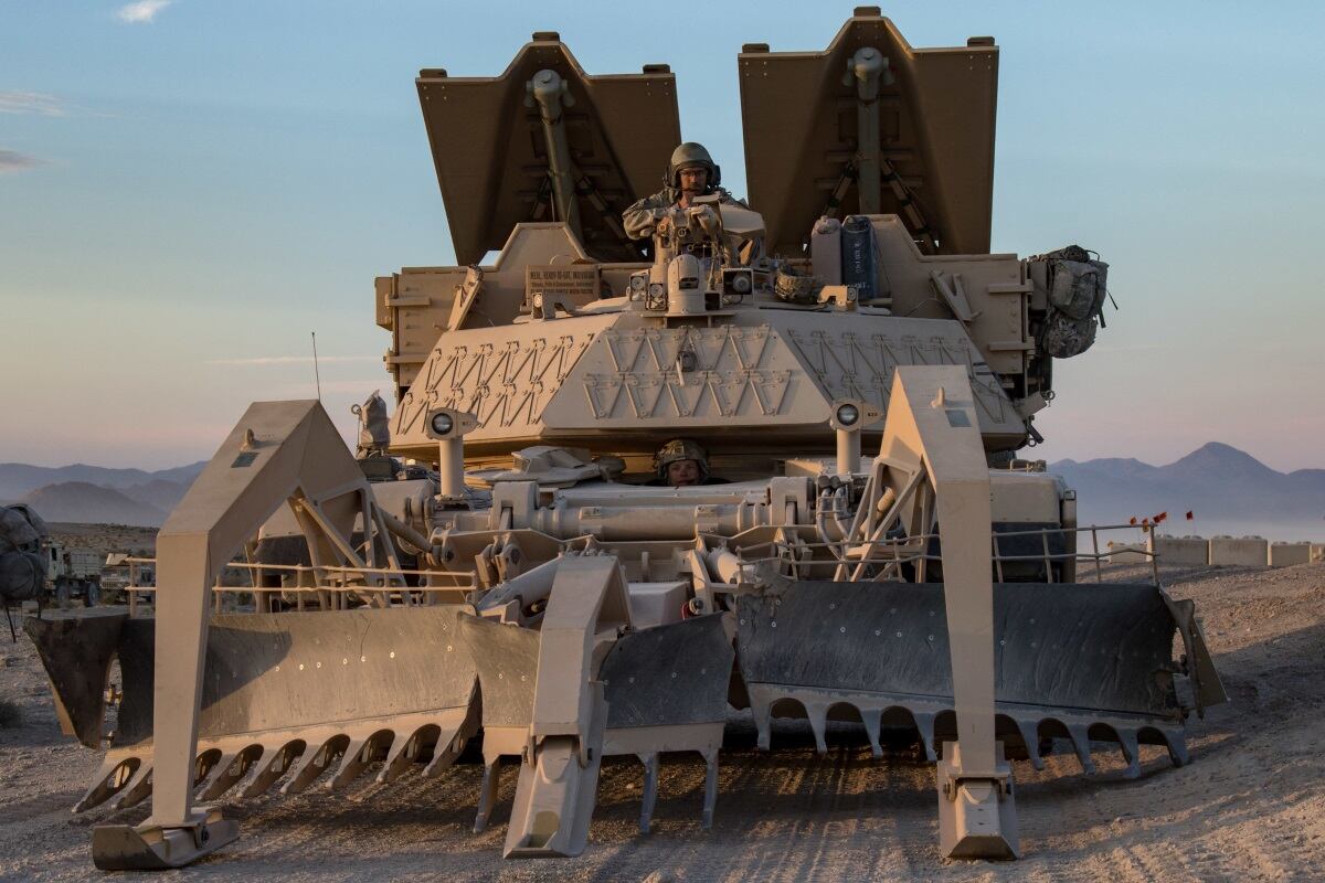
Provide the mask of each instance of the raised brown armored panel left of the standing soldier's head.
[{"label": "raised brown armored panel left of the standing soldier's head", "polygon": [[502,248],[521,221],[550,221],[554,200],[537,106],[526,83],[539,70],[566,81],[574,106],[564,110],[571,160],[592,183],[606,210],[580,192],[586,250],[606,261],[639,261],[640,245],[608,217],[657,189],[672,148],[681,140],[676,77],[666,65],[639,74],[590,75],[553,32],[539,32],[500,77],[448,77],[419,71],[419,102],[447,208],[456,261],[477,263]]}]

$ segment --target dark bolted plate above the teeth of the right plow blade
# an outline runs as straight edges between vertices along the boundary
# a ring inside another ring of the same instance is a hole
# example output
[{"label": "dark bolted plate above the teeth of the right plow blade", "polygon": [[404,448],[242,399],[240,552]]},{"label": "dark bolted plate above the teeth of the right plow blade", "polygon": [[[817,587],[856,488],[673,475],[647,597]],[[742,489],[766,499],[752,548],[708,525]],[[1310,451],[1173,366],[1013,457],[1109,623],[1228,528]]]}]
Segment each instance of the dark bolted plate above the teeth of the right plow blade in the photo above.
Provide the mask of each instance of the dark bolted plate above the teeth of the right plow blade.
[{"label": "dark bolted plate above the teeth of the right plow blade", "polygon": [[[941,584],[798,581],[737,602],[747,683],[950,700]],[[1150,585],[994,585],[998,702],[1179,718],[1174,621]]]}]

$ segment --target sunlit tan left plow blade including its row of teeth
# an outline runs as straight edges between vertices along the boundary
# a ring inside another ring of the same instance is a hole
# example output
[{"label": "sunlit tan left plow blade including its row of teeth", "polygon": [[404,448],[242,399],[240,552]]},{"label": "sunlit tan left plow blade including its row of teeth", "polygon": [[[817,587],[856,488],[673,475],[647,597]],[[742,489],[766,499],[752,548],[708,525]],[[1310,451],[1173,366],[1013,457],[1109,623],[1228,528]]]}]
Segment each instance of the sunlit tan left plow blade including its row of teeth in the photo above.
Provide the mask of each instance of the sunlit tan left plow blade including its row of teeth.
[{"label": "sunlit tan left plow blade including its row of teeth", "polygon": [[[436,774],[477,732],[476,674],[458,605],[212,618],[207,635],[193,785],[197,798],[347,786],[383,761],[376,781],[416,763]],[[78,801],[117,809],[152,790],[156,624],[97,617],[28,621],[57,707],[98,745],[111,654],[122,699],[105,761]],[[81,657],[80,649],[90,653]],[[82,661],[80,661],[82,659]],[[87,665],[95,659],[94,670]],[[94,692],[93,687],[99,684]]]}]

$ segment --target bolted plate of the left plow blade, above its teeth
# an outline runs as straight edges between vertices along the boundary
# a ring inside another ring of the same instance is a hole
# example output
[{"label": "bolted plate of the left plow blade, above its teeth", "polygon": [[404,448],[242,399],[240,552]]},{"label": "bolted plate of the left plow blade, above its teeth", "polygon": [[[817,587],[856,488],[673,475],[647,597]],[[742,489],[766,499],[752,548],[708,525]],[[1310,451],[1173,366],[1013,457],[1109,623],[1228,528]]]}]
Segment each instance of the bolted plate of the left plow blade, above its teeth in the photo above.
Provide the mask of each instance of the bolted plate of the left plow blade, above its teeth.
[{"label": "bolted plate of the left plow blade, above its teeth", "polygon": [[[348,724],[469,704],[460,605],[217,616],[207,634],[199,739]],[[129,620],[114,745],[151,737],[155,621]]]}]

